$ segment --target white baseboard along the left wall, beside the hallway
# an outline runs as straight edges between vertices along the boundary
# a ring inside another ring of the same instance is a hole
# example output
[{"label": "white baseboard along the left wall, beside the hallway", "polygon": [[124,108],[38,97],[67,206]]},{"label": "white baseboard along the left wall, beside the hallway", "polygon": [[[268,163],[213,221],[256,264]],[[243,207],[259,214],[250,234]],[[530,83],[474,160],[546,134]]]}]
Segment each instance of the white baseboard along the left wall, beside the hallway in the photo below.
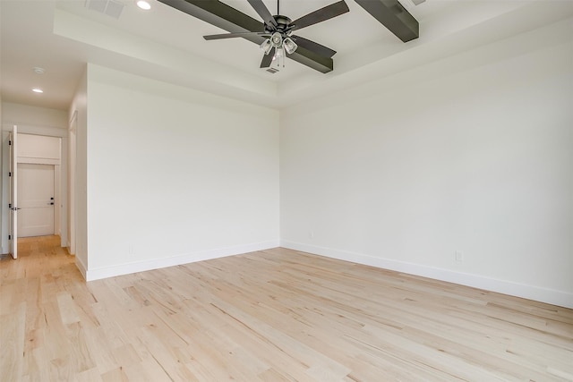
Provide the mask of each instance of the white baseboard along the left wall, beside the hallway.
[{"label": "white baseboard along the left wall, beside the hallway", "polygon": [[[220,248],[216,250],[203,250],[199,252],[173,256],[165,259],[149,259],[143,261],[136,261],[133,263],[120,264],[113,267],[100,267],[96,269],[87,269],[86,271],[82,272],[82,275],[85,277],[86,281],[93,281],[107,277],[122,276],[136,272],[144,272],[147,270],[159,269],[162,267],[174,267],[196,261],[224,258],[227,256],[239,255],[242,253],[254,252],[257,250],[269,250],[271,248],[277,248],[277,247],[278,247],[278,241],[256,242],[252,244],[239,245],[228,248]],[[78,257],[76,257],[76,265],[78,265],[77,259]],[[79,265],[78,268],[80,268]],[[82,271],[81,268],[80,271]]]}]

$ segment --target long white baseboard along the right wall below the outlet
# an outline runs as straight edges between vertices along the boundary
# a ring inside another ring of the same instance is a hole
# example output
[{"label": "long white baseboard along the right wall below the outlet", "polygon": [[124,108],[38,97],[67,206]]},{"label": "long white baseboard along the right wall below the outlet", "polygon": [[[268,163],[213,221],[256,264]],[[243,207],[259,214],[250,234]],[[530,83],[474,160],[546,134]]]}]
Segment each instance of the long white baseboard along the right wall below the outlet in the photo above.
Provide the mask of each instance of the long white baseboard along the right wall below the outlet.
[{"label": "long white baseboard along the right wall below the outlet", "polygon": [[301,250],[333,259],[351,261],[358,264],[380,267],[410,275],[429,277],[435,280],[447,281],[449,283],[472,286],[486,291],[509,294],[511,296],[522,297],[528,300],[546,302],[565,308],[573,308],[573,293],[557,291],[540,286],[520,284],[487,276],[467,274],[450,269],[429,267],[394,259],[382,259],[362,253],[336,250],[333,248],[320,247],[302,242],[281,241],[280,246],[290,250]]}]

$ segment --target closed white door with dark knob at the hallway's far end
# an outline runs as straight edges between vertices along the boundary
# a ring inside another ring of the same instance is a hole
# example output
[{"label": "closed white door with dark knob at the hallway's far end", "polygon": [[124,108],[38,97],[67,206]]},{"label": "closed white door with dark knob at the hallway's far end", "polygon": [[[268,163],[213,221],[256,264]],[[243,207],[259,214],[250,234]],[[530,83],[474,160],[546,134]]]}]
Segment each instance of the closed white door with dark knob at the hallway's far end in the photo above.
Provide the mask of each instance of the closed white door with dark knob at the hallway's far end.
[{"label": "closed white door with dark knob at the hallway's far end", "polygon": [[18,237],[54,234],[54,165],[18,164]]}]

